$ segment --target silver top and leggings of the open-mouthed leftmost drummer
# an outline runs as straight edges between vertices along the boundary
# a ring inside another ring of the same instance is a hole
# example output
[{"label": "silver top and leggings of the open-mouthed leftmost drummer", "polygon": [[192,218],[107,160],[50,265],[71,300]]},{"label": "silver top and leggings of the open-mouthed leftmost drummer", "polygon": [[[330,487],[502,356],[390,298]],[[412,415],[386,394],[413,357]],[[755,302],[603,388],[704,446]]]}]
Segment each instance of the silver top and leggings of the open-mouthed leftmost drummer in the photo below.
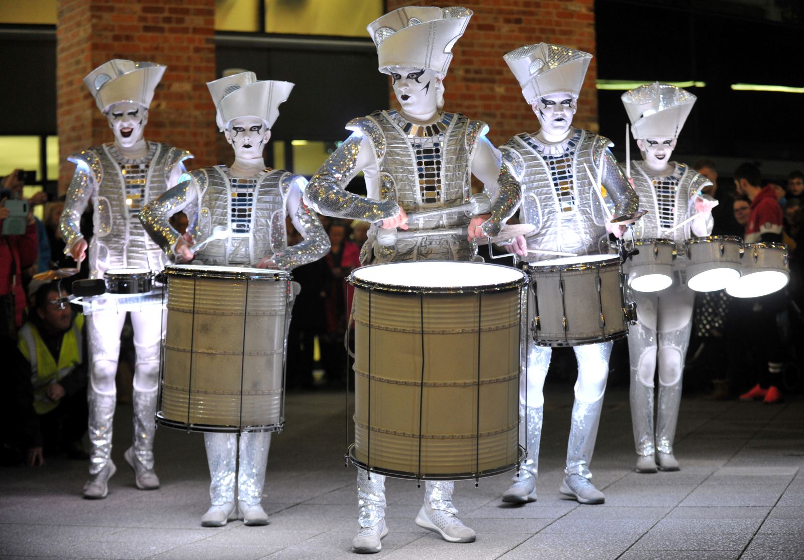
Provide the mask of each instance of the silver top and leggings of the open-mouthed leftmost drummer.
[{"label": "silver top and leggings of the open-mouthed leftmost drummer", "polygon": [[[94,207],[94,236],[89,243],[92,278],[103,278],[110,268],[162,270],[162,251],[142,229],[137,215],[177,182],[183,161],[191,153],[159,142],[147,142],[148,153],[139,159],[121,156],[114,144],[104,144],[68,157],[76,164],[64,202],[59,229],[66,241],[65,254],[83,239],[81,214],[88,202]],[[125,313],[114,310],[88,316],[92,354],[89,392],[89,435],[92,444],[89,472],[98,474],[112,452],[112,417],[116,403],[114,378],[120,354]],[[154,466],[154,414],[159,371],[159,343],[163,315],[157,306],[131,312],[134,329],[134,454],[147,469]]]}]

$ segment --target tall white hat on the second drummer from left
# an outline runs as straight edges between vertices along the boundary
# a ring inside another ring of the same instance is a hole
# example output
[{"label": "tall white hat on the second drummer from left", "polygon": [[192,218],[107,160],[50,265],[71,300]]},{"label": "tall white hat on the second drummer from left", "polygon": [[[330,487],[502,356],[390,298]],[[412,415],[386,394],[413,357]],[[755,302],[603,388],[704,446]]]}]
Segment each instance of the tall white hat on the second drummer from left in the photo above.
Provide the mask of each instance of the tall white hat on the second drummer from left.
[{"label": "tall white hat on the second drummer from left", "polygon": [[207,82],[215,103],[215,122],[223,130],[239,116],[256,116],[270,129],[279,116],[279,105],[288,100],[293,89],[290,82],[256,80],[254,72],[240,72],[220,80]]}]

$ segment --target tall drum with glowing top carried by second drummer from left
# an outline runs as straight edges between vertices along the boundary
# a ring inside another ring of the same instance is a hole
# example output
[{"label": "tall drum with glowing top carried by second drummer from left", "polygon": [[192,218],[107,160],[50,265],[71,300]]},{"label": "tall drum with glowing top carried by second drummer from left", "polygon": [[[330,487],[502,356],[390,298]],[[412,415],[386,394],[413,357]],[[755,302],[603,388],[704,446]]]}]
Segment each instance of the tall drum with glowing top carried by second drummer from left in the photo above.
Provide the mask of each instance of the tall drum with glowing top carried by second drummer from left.
[{"label": "tall drum with glowing top carried by second drummer from left", "polygon": [[281,431],[289,272],[165,269],[157,422],[190,431]]}]

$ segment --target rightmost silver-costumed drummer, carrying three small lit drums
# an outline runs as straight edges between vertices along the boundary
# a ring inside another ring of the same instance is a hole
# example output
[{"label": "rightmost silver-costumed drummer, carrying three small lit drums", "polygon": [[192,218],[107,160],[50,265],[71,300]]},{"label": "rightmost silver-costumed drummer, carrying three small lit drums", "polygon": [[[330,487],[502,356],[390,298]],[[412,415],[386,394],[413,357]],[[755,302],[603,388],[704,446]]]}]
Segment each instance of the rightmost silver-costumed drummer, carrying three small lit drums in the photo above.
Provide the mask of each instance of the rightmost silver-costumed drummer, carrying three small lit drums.
[{"label": "rightmost silver-costumed drummer, carrying three small lit drums", "polygon": [[[646,84],[621,97],[630,118],[631,132],[642,151],[643,161],[632,161],[634,189],[639,207],[648,211],[636,224],[638,239],[663,238],[675,242],[673,284],[659,292],[631,295],[637,304],[638,322],[630,329],[631,419],[638,472],[658,468],[676,471],[673,456],[675,426],[681,403],[681,375],[690,341],[695,292],[687,288],[683,271],[687,264],[683,242],[693,235],[712,233],[712,202],[700,198],[711,186],[691,167],[670,161],[679,133],[695,96],[670,84]],[[686,226],[669,231],[696,215]],[[654,438],[654,373],[658,365],[658,415]]]}]

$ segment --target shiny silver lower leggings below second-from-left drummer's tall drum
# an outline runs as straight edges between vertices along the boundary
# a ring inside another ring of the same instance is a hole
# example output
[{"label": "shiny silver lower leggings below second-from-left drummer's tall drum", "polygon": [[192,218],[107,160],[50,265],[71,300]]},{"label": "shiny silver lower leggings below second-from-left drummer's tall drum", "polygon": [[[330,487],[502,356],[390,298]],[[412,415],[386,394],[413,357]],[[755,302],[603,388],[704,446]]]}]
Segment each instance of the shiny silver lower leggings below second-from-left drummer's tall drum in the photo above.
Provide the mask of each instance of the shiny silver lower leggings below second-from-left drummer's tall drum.
[{"label": "shiny silver lower leggings below second-from-left drummer's tall drum", "polygon": [[235,486],[241,504],[260,505],[271,433],[246,432],[239,438],[237,434],[206,433],[203,440],[211,479],[211,505],[234,503]]}]

